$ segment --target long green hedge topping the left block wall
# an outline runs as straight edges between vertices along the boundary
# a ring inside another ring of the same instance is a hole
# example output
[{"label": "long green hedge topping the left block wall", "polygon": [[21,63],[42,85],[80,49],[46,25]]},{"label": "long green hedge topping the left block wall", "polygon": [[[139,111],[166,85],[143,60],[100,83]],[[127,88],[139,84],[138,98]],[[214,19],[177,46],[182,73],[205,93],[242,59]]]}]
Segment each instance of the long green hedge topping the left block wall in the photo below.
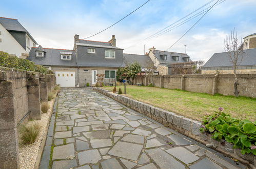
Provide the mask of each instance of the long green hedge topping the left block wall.
[{"label": "long green hedge topping the left block wall", "polygon": [[27,59],[11,56],[6,52],[0,51],[0,66],[25,71],[34,71],[46,74],[52,74],[51,70],[46,69],[42,65],[35,65],[34,62]]}]

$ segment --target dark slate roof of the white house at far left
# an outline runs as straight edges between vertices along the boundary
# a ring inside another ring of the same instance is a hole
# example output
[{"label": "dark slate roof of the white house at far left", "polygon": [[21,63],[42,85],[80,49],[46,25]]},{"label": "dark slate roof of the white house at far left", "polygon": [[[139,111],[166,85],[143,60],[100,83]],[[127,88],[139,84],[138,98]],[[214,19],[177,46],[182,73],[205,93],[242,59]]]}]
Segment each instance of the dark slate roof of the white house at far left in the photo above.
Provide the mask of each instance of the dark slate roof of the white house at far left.
[{"label": "dark slate roof of the white house at far left", "polygon": [[21,23],[18,22],[18,19],[0,17],[0,24],[9,31],[26,32],[28,36],[35,42],[35,44],[38,45],[30,33],[22,26]]}]

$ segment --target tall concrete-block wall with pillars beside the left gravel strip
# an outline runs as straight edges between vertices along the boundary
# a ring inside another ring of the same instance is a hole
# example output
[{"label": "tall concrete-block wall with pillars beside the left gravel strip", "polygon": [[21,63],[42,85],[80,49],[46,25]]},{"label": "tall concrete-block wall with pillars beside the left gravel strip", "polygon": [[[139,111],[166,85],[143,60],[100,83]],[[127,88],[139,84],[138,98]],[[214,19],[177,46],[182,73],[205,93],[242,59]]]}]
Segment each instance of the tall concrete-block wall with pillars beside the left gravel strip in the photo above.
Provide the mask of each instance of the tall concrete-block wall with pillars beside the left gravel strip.
[{"label": "tall concrete-block wall with pillars beside the left gravel strip", "polygon": [[17,125],[41,119],[48,85],[54,75],[0,67],[0,168],[19,167]]}]

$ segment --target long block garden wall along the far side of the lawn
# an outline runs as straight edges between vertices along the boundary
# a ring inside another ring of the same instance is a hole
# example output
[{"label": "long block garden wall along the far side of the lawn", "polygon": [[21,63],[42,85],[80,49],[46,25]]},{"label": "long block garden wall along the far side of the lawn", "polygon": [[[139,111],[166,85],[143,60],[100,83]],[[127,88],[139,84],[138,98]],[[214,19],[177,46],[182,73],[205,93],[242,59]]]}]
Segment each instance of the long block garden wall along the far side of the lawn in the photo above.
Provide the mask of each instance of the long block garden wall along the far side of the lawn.
[{"label": "long block garden wall along the far side of the lawn", "polygon": [[[256,74],[238,74],[240,96],[256,97]],[[200,75],[154,75],[153,85],[167,89],[181,89],[190,92],[234,95],[234,76],[232,74]],[[148,85],[147,76],[136,76],[133,85]]]}]

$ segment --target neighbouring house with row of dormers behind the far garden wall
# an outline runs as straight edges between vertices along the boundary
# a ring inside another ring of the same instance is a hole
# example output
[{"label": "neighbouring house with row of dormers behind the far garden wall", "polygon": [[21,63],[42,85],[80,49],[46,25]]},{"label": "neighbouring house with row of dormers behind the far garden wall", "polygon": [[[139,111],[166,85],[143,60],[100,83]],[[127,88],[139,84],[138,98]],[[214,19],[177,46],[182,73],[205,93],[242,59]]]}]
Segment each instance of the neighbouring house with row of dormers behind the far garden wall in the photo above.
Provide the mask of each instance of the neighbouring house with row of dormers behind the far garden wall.
[{"label": "neighbouring house with row of dormers behind the far garden wall", "polygon": [[192,61],[186,53],[160,51],[155,50],[154,47],[149,49],[148,55],[154,62],[160,75],[173,74],[171,71],[173,64]]}]

